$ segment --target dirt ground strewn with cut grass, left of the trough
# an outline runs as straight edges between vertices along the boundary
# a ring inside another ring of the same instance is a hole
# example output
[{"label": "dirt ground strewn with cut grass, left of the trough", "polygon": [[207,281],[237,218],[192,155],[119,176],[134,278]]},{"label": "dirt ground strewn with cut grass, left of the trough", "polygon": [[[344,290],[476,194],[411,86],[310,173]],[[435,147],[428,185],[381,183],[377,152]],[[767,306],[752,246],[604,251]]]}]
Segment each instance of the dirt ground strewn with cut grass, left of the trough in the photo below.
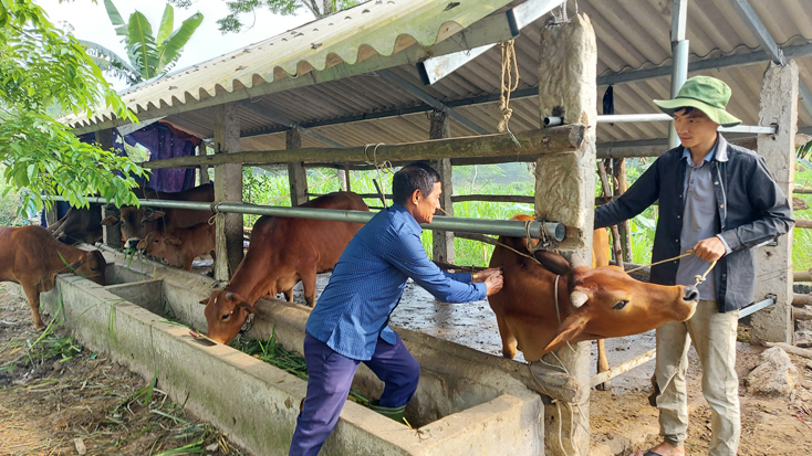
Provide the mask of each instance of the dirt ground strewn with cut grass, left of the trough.
[{"label": "dirt ground strewn with cut grass, left of the trough", "polygon": [[24,298],[0,286],[0,456],[249,455],[159,384],[60,328],[41,336]]}]

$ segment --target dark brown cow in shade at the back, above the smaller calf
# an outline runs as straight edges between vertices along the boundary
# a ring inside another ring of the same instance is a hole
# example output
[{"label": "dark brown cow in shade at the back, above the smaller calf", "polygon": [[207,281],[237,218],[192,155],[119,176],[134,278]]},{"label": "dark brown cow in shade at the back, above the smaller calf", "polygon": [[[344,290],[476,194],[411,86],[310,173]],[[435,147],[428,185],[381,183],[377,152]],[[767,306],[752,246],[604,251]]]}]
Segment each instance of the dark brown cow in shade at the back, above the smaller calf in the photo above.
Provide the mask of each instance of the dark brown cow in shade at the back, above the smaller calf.
[{"label": "dark brown cow in shade at the back, above the smaller calf", "polygon": [[[150,195],[150,198],[153,197]],[[212,202],[215,201],[215,185],[206,183],[175,193],[156,192],[156,197],[153,199]],[[198,223],[208,222],[210,218],[211,213],[208,211],[171,208],[164,209],[163,211],[154,211],[148,206],[135,208],[125,205],[122,206],[118,216],[111,215],[104,219],[102,224],[112,225],[121,222],[122,237],[125,240],[124,245],[129,248],[135,248],[138,242],[153,231],[171,233],[176,229],[186,229]]]}]

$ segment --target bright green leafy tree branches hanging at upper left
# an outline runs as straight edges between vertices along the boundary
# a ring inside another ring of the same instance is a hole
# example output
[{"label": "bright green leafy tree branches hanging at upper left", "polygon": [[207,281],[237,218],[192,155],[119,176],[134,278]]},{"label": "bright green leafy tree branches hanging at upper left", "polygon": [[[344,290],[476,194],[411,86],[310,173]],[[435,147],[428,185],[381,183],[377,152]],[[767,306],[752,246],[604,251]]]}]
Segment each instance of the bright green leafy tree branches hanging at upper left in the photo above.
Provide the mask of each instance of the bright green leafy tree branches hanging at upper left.
[{"label": "bright green leafy tree branches hanging at upper left", "polygon": [[136,120],[84,47],[48,21],[30,0],[0,1],[0,162],[8,194],[41,209],[44,195],[64,195],[77,206],[95,192],[133,202],[132,178],[144,171],[112,151],[82,144],[53,113],[81,115],[105,103],[119,118]]}]

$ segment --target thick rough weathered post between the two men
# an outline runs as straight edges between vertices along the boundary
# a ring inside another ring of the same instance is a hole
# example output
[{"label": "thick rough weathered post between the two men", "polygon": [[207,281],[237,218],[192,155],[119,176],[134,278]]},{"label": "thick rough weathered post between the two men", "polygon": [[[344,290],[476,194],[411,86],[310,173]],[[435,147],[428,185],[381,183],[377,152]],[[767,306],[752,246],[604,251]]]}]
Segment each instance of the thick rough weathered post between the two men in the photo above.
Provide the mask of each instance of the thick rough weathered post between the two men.
[{"label": "thick rough weathered post between the two men", "polygon": [[[586,127],[584,140],[573,153],[540,156],[535,166],[535,214],[560,220],[568,235],[560,248],[572,252],[573,266],[592,264],[592,231],[595,198],[595,129],[597,121],[597,46],[595,31],[585,14],[569,23],[542,30],[539,65],[541,118],[564,117],[565,124]],[[582,385],[590,384],[590,342],[563,347],[545,357]],[[582,397],[569,404],[544,406],[546,455],[586,456],[590,450],[590,403]]]}]

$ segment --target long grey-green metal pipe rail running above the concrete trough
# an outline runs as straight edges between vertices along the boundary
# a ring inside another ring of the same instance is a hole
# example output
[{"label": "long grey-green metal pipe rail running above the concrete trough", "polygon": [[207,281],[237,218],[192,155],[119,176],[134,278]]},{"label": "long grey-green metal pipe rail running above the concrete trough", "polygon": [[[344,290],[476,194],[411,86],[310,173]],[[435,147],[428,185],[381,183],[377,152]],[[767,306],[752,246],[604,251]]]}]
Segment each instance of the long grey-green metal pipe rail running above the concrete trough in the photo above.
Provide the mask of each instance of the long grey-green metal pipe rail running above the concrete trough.
[{"label": "long grey-green metal pipe rail running above the concrete trough", "polygon": [[[65,201],[63,197],[54,197],[55,201]],[[89,202],[106,204],[104,198],[90,197]],[[150,208],[174,208],[190,209],[197,211],[212,211],[222,213],[238,213],[251,215],[275,215],[288,216],[294,219],[315,219],[332,220],[336,222],[366,223],[375,213],[365,211],[342,211],[336,209],[315,209],[315,208],[284,208],[272,205],[258,205],[246,203],[206,203],[198,201],[169,201],[169,200],[138,200],[143,205]],[[542,238],[544,234],[552,237],[556,242],[563,241],[566,234],[566,226],[558,222],[530,222],[528,231],[525,231],[524,222],[513,220],[488,220],[488,219],[470,219],[456,216],[437,215],[429,223],[421,223],[424,230],[441,230],[458,231],[477,234],[491,234],[496,236],[524,237],[530,232],[533,238]],[[542,231],[543,227],[543,231]]]}]

